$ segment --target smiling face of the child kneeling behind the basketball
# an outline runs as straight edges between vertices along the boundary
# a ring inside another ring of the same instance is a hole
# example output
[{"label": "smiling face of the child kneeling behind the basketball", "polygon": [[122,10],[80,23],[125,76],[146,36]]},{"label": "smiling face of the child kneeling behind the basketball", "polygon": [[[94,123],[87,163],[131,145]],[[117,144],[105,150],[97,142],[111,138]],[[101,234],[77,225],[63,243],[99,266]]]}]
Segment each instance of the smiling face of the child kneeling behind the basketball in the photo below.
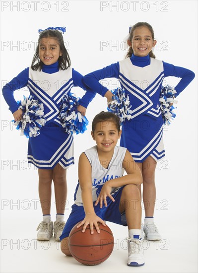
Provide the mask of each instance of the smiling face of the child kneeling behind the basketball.
[{"label": "smiling face of the child kneeling behind the basketball", "polygon": [[91,132],[93,139],[96,141],[98,151],[114,151],[118,139],[121,136],[118,132],[117,125],[113,121],[98,122],[95,131]]}]

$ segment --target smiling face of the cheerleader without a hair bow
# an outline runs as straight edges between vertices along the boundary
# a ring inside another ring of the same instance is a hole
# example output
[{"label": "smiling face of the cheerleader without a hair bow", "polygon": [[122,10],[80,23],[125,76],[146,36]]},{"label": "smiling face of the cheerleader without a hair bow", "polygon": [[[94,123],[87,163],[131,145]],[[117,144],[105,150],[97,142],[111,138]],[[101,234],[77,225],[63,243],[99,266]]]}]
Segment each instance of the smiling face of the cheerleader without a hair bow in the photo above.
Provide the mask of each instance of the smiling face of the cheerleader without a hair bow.
[{"label": "smiling face of the cheerleader without a hair bow", "polygon": [[136,27],[133,31],[132,41],[128,40],[129,46],[132,46],[135,56],[144,57],[149,54],[152,47],[156,45],[150,30],[145,27]]}]

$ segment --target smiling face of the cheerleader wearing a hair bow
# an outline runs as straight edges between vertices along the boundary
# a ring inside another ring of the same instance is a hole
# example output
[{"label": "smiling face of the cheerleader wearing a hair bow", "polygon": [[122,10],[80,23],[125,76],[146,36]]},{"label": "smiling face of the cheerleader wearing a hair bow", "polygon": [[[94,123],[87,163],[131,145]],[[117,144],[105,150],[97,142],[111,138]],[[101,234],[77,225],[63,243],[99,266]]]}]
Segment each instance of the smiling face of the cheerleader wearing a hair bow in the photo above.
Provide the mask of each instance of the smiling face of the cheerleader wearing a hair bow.
[{"label": "smiling face of the cheerleader wearing a hair bow", "polygon": [[42,38],[39,42],[39,58],[47,66],[55,64],[62,56],[60,46],[56,39]]}]

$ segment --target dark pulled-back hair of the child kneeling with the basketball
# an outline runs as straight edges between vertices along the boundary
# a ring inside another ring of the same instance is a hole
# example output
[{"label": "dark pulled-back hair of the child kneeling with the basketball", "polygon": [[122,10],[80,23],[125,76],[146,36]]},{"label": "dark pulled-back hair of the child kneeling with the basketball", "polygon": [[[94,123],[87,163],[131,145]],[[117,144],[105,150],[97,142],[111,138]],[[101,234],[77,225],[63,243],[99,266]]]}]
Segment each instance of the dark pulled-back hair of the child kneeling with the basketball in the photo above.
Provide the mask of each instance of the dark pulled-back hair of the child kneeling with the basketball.
[{"label": "dark pulled-back hair of the child kneeling with the basketball", "polygon": [[113,121],[116,125],[116,128],[118,130],[118,132],[120,132],[120,119],[118,116],[116,116],[114,113],[111,112],[100,112],[99,114],[97,114],[93,121],[92,121],[92,132],[94,133],[95,129],[96,129],[96,124],[99,122],[103,122],[103,121]]}]

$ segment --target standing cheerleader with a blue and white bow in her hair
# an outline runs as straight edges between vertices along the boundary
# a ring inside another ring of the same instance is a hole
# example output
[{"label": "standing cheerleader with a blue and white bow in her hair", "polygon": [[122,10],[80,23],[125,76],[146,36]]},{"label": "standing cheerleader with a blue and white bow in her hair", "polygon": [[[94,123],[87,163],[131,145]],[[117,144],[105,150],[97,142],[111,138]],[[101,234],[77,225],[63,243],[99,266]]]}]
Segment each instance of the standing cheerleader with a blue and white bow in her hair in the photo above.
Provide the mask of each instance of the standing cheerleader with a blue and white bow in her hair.
[{"label": "standing cheerleader with a blue and white bow in her hair", "polygon": [[[24,69],[3,89],[3,96],[15,121],[22,119],[22,110],[14,99],[13,91],[27,86],[35,100],[44,105],[46,124],[40,135],[29,137],[28,162],[38,168],[39,198],[43,221],[37,230],[38,240],[50,240],[53,236],[60,241],[65,226],[64,213],[66,205],[66,169],[74,164],[73,135],[67,134],[60,119],[60,105],[64,94],[73,86],[86,89],[82,75],[70,67],[69,55],[64,45],[65,27],[49,27],[39,30],[38,46],[30,68]],[[86,91],[79,100],[78,111],[84,116],[89,102],[95,94]],[[51,187],[55,187],[57,215],[51,221]]]}]

